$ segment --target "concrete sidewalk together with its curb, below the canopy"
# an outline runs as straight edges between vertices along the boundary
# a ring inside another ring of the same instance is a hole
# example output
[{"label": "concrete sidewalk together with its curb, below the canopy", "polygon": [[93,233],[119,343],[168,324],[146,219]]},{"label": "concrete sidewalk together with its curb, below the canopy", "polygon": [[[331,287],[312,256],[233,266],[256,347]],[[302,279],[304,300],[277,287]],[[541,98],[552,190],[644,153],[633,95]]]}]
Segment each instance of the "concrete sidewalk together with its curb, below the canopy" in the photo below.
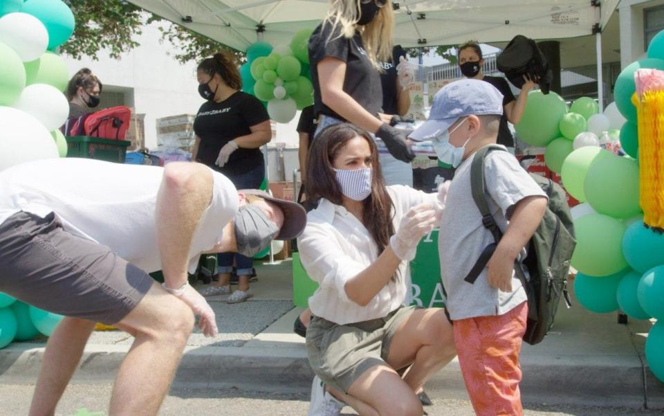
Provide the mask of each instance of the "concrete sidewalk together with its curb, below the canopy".
[{"label": "concrete sidewalk together with its curb, below the canopy", "polygon": [[[265,392],[307,392],[313,373],[304,339],[293,334],[301,309],[291,303],[291,262],[257,267],[255,298],[227,305],[210,298],[219,336],[190,337],[174,385]],[[619,325],[616,314],[592,314],[575,302],[561,303],[557,322],[540,345],[521,354],[524,401],[664,409],[664,383],[644,368],[648,321]],[[95,332],[74,382],[112,381],[133,338],[124,332]],[[0,383],[34,383],[44,352],[42,343],[15,343],[0,350]],[[426,385],[430,396],[467,398],[455,360]]]}]

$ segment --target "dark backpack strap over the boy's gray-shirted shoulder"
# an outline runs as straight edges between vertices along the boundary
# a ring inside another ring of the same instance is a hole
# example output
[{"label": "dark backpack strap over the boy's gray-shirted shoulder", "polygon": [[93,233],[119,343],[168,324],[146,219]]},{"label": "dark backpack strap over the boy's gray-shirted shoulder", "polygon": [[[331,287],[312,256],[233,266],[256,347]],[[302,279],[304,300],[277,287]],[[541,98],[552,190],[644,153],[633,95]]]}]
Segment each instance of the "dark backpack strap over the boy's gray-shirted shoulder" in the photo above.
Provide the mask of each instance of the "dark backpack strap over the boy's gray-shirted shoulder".
[{"label": "dark backpack strap over the boy's gray-shirted shoulder", "polygon": [[[489,262],[489,259],[493,255],[494,251],[496,251],[501,237],[503,237],[503,233],[498,227],[495,218],[493,215],[491,215],[489,204],[486,201],[484,159],[486,159],[487,154],[494,150],[506,152],[505,148],[499,145],[486,145],[475,153],[472,159],[472,165],[470,165],[470,190],[472,192],[472,199],[475,201],[475,205],[477,205],[477,209],[479,209],[479,213],[482,215],[482,225],[484,228],[490,231],[494,239],[494,242],[484,248],[481,255],[477,259],[477,262],[475,262],[474,266],[472,266],[472,269],[470,269],[470,272],[468,272],[468,275],[466,275],[463,279],[465,282],[470,284],[474,284],[480,273],[486,268],[486,264]],[[518,260],[515,260],[514,269],[517,273],[517,277],[522,281],[522,284],[524,284],[525,287],[526,275],[522,269],[521,263],[519,263]]]}]

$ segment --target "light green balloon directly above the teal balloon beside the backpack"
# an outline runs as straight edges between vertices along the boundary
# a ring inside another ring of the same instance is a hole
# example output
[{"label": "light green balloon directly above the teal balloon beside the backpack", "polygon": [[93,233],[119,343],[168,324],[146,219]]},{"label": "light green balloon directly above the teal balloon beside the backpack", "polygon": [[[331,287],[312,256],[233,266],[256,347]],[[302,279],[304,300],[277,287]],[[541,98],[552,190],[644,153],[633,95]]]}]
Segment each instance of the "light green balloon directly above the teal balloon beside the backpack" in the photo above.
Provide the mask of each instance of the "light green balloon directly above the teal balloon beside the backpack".
[{"label": "light green balloon directly above the teal balloon beside the backpack", "polygon": [[623,256],[625,224],[602,214],[584,215],[574,221],[576,247],[572,266],[581,273],[605,276],[627,269]]}]

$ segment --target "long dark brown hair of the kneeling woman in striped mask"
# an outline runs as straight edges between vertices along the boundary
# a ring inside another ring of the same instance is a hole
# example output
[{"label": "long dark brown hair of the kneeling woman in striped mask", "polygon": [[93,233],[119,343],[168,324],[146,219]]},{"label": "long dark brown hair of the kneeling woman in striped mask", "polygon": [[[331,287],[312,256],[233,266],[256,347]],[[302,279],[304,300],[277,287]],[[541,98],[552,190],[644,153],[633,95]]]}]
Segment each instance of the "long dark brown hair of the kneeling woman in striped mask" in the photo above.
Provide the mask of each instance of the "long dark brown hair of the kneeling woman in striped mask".
[{"label": "long dark brown hair of the kneeling woman in striped mask", "polygon": [[389,244],[389,237],[394,234],[393,204],[380,172],[378,148],[367,131],[349,123],[340,123],[325,127],[317,134],[306,161],[306,193],[312,201],[325,198],[333,204],[342,204],[343,194],[335,179],[333,163],[340,150],[357,136],[364,138],[371,149],[371,194],[362,201],[362,224],[374,238],[378,253],[382,253]]}]

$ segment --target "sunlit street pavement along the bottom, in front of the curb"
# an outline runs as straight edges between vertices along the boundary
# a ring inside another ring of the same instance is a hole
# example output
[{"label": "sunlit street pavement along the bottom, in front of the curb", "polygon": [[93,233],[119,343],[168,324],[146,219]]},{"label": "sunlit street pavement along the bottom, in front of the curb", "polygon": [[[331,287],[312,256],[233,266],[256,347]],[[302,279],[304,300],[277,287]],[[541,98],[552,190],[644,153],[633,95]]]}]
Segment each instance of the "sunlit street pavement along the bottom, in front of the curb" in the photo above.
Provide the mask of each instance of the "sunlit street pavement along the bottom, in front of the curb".
[{"label": "sunlit street pavement along the bottom, in front of the curb", "polygon": [[[30,405],[33,386],[3,385],[0,388],[0,414],[25,415]],[[102,416],[111,392],[110,386],[73,385],[68,388],[55,413],[56,416]],[[546,406],[526,404],[527,416],[655,416],[664,410],[648,411],[633,408],[586,406]],[[87,409],[85,412],[83,409]],[[295,416],[306,415],[308,395],[276,395],[244,390],[173,390],[165,400],[160,416],[225,415],[225,416]],[[472,416],[468,401],[434,399],[434,406],[425,409],[431,416]],[[356,415],[350,408],[344,415]]]}]

